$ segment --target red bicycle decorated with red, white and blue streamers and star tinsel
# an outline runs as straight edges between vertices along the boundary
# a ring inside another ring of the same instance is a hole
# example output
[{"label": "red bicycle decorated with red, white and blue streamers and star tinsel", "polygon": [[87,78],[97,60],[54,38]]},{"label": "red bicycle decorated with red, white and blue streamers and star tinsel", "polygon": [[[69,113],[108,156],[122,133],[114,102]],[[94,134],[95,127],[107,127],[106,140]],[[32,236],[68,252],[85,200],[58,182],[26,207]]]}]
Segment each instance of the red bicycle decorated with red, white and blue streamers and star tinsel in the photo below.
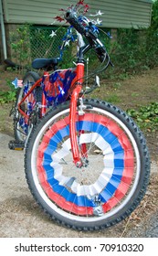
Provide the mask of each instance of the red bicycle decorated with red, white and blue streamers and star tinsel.
[{"label": "red bicycle decorated with red, white and blue streamers and star tinsel", "polygon": [[[139,205],[149,182],[150,157],[131,117],[111,103],[84,98],[85,53],[92,48],[104,63],[102,70],[111,59],[98,28],[77,10],[65,11],[79,36],[77,66],[43,77],[45,86],[51,82],[58,104],[45,114],[41,103],[45,116],[27,141],[25,170],[32,195],[52,219],[69,228],[95,230],[120,222]],[[45,91],[45,101],[51,95]]]}]

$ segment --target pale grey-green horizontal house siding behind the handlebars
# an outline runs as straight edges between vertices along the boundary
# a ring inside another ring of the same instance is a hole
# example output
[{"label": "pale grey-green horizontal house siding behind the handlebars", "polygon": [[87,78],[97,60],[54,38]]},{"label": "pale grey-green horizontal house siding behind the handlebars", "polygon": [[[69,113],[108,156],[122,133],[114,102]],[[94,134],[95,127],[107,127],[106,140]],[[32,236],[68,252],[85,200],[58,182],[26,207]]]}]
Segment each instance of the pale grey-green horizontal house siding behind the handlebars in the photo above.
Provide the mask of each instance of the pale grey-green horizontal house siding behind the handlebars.
[{"label": "pale grey-green horizontal house siding behind the handlebars", "polygon": [[[150,0],[102,0],[85,1],[90,5],[90,13],[101,10],[103,27],[149,27],[151,23],[152,1]],[[71,4],[77,1],[70,1]],[[66,8],[68,1],[58,0],[3,0],[5,23],[32,23],[50,25],[58,16],[59,9]],[[58,25],[58,23],[56,23]]]}]

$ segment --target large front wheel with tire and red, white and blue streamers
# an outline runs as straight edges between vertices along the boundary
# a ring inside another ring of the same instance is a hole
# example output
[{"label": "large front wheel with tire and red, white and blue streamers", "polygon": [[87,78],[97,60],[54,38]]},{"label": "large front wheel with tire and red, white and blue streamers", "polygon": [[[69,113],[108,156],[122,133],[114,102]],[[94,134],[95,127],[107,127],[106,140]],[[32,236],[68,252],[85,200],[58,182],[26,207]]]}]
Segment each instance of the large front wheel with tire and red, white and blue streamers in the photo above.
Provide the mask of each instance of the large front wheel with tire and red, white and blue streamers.
[{"label": "large front wheel with tire and red, white and blue streamers", "polygon": [[48,112],[31,134],[27,183],[58,223],[73,229],[107,228],[139,205],[149,182],[148,149],[132,119],[104,101],[84,100],[76,127],[84,165],[73,163],[67,102]]}]

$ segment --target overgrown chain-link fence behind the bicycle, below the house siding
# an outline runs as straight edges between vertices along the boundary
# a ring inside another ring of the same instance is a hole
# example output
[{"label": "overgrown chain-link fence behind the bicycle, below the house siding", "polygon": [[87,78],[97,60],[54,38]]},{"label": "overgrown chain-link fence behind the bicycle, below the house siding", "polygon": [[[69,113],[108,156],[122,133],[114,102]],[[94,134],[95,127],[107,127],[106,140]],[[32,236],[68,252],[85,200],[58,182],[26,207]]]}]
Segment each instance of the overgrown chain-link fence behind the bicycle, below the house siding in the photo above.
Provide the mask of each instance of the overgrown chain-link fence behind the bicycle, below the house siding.
[{"label": "overgrown chain-link fence behind the bicycle, below the house siding", "polygon": [[[54,37],[50,37],[52,30],[56,33]],[[60,57],[60,48],[66,35],[68,35],[68,27],[31,26],[26,24],[18,26],[10,33],[11,59],[16,64],[20,64],[22,69],[27,69],[27,67],[30,69],[33,59]],[[58,68],[67,69],[74,65],[73,61],[77,59],[75,35],[74,31],[72,40],[74,42],[69,40],[68,45],[62,51],[62,61],[60,61]],[[104,34],[101,41],[105,41]],[[85,59],[89,59],[90,70],[95,70],[100,66],[93,50],[86,54]]]}]

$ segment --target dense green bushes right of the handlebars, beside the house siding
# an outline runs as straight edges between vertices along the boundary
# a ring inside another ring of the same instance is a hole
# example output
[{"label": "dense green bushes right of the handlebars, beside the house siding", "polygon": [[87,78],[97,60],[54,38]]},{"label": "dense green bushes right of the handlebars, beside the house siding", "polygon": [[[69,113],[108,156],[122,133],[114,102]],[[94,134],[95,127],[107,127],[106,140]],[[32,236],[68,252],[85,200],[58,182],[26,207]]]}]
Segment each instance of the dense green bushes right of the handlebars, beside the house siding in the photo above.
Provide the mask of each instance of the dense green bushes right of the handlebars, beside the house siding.
[{"label": "dense green bushes right of the handlebars, beside the house siding", "polygon": [[118,29],[113,48],[115,72],[140,72],[158,65],[158,0],[153,3],[151,27]]}]

